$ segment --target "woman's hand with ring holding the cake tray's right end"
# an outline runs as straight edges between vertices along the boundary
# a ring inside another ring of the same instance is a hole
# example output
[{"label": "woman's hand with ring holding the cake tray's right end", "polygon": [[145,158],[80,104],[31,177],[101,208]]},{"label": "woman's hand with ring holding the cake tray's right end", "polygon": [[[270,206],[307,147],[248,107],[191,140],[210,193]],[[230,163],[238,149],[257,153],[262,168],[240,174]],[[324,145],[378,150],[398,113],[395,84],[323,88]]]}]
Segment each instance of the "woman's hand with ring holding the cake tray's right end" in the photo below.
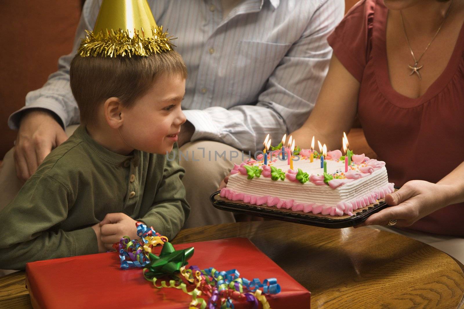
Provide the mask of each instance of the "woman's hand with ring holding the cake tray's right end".
[{"label": "woman's hand with ring holding the cake tray's right end", "polygon": [[408,227],[434,211],[448,206],[451,199],[451,186],[448,184],[429,183],[412,180],[398,191],[385,196],[385,202],[391,207],[371,215],[361,224],[386,226],[388,221],[397,220],[396,226]]}]

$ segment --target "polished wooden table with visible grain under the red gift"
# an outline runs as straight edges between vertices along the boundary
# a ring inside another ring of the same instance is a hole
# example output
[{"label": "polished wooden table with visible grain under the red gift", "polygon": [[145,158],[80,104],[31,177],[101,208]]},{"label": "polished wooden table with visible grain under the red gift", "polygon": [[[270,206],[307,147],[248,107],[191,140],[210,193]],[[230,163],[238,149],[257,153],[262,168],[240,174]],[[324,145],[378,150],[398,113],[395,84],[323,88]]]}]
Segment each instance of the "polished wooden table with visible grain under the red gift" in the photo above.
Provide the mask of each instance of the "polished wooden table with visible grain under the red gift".
[{"label": "polished wooden table with visible grain under the red gift", "polygon": [[[311,291],[311,308],[464,308],[462,264],[402,235],[254,221],[183,230],[174,244],[247,237]],[[0,278],[0,308],[31,308],[24,271]]]}]

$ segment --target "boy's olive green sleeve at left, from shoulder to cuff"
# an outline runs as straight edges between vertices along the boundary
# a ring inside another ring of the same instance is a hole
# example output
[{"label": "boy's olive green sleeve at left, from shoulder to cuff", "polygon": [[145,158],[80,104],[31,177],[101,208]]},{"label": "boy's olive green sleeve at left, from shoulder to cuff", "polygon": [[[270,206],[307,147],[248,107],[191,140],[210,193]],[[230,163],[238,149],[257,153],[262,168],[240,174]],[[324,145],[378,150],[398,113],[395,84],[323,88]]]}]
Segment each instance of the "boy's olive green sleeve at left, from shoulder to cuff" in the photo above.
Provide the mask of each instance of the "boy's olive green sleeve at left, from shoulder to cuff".
[{"label": "boy's olive green sleeve at left, from shoulder to cuff", "polygon": [[71,190],[47,174],[31,177],[13,202],[0,211],[0,268],[98,252],[92,227],[66,232],[57,226],[68,216]]}]

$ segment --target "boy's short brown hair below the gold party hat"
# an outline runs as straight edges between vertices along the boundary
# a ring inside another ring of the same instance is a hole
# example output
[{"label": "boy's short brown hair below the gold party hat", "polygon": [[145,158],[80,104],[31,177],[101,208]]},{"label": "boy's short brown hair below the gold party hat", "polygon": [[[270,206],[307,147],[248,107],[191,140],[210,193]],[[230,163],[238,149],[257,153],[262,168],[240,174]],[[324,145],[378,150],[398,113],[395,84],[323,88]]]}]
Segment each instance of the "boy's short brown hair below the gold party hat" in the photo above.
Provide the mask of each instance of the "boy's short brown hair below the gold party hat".
[{"label": "boy's short brown hair below the gold party hat", "polygon": [[187,78],[182,57],[174,50],[150,56],[81,57],[71,61],[71,91],[79,107],[82,124],[95,120],[99,104],[117,97],[131,107],[161,75]]}]

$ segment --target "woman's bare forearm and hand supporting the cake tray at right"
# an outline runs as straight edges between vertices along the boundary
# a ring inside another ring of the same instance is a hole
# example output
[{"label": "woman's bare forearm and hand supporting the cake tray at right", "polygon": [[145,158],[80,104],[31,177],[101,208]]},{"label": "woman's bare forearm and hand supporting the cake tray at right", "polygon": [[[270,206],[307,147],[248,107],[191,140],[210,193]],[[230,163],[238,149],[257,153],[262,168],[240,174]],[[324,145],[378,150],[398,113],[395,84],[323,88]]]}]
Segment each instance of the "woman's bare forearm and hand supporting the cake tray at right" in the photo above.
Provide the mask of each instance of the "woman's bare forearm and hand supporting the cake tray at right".
[{"label": "woman's bare forearm and hand supporting the cake tray at right", "polygon": [[412,180],[401,189],[385,196],[385,202],[392,207],[382,209],[371,215],[366,225],[387,225],[390,220],[397,220],[399,227],[408,227],[419,219],[448,205],[464,202],[464,162],[438,183]]}]

